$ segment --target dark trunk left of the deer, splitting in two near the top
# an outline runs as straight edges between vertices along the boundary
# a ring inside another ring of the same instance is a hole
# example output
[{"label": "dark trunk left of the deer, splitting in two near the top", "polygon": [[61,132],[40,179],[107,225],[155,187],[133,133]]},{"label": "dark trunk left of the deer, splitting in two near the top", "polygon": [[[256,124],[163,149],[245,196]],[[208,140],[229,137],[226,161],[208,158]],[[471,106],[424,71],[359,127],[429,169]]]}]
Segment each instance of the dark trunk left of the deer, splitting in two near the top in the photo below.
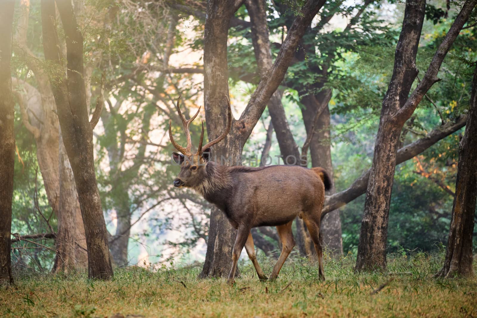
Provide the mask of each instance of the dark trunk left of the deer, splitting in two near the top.
[{"label": "dark trunk left of the deer, splitting in two near the top", "polygon": [[[109,257],[106,224],[94,174],[93,130],[88,119],[83,80],[83,36],[78,29],[71,2],[58,1],[66,36],[67,78],[52,78],[63,144],[73,170],[80,201],[88,250],[88,277],[110,279],[113,268]],[[61,52],[52,0],[41,1],[41,20],[45,59],[62,70]]]}]

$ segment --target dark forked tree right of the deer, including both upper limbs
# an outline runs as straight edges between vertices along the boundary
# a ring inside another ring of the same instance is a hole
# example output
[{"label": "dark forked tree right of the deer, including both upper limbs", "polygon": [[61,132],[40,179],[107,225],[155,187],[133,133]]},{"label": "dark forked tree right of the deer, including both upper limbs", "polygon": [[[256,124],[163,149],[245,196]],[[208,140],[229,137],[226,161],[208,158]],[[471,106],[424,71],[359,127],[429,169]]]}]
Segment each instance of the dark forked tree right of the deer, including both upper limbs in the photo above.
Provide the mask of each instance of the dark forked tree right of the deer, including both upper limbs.
[{"label": "dark forked tree right of the deer, including both upper limbs", "polygon": [[439,45],[423,80],[407,98],[417,76],[415,55],[425,14],[425,1],[407,1],[401,35],[396,46],[394,71],[384,97],[374,147],[373,166],[368,181],[361,224],[356,271],[386,267],[386,241],[389,205],[394,181],[396,150],[404,123],[429,90],[439,81],[437,72],[476,5],[466,1],[456,20]]}]

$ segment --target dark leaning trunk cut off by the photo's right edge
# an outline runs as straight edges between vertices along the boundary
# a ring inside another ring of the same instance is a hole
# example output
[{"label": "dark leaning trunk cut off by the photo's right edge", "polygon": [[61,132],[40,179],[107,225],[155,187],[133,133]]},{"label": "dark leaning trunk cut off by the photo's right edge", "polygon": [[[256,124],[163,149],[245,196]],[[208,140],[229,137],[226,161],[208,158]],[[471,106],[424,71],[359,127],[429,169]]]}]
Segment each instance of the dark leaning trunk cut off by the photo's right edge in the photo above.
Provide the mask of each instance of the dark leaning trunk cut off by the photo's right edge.
[{"label": "dark leaning trunk cut off by the photo's right edge", "polygon": [[440,277],[473,277],[472,234],[477,196],[477,64],[464,138],[459,143],[456,195],[452,207],[449,241]]}]

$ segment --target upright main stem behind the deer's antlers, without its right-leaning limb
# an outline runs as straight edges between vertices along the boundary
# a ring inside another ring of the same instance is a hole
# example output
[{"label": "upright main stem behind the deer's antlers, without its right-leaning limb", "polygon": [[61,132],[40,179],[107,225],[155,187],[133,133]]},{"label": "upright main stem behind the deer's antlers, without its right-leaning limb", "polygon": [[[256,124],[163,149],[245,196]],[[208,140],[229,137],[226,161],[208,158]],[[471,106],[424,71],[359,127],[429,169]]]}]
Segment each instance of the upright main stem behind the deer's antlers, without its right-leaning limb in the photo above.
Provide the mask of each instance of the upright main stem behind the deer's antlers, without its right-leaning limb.
[{"label": "upright main stem behind the deer's antlers, without its right-leaning limb", "polygon": [[[227,126],[227,36],[228,23],[235,12],[233,1],[208,1],[204,30],[204,108],[208,138],[217,138]],[[235,122],[235,120],[234,120]],[[221,143],[215,146],[212,156],[220,163],[221,156],[237,164],[243,145],[238,143],[235,124]],[[225,164],[225,163],[220,163]],[[207,253],[200,277],[225,277],[232,266],[232,248],[237,230],[230,226],[227,217],[216,207],[210,213]]]}]

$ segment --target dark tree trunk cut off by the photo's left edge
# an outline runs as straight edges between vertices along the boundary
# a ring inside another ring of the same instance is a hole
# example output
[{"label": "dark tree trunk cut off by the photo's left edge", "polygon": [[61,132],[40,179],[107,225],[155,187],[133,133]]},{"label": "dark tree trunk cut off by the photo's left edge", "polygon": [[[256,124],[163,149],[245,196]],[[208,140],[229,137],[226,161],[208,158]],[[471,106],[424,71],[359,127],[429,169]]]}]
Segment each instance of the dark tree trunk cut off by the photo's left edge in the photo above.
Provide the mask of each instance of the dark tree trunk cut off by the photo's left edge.
[{"label": "dark tree trunk cut off by the photo's left edge", "polygon": [[0,286],[11,276],[11,202],[15,166],[14,105],[11,92],[11,34],[14,0],[0,3]]}]

